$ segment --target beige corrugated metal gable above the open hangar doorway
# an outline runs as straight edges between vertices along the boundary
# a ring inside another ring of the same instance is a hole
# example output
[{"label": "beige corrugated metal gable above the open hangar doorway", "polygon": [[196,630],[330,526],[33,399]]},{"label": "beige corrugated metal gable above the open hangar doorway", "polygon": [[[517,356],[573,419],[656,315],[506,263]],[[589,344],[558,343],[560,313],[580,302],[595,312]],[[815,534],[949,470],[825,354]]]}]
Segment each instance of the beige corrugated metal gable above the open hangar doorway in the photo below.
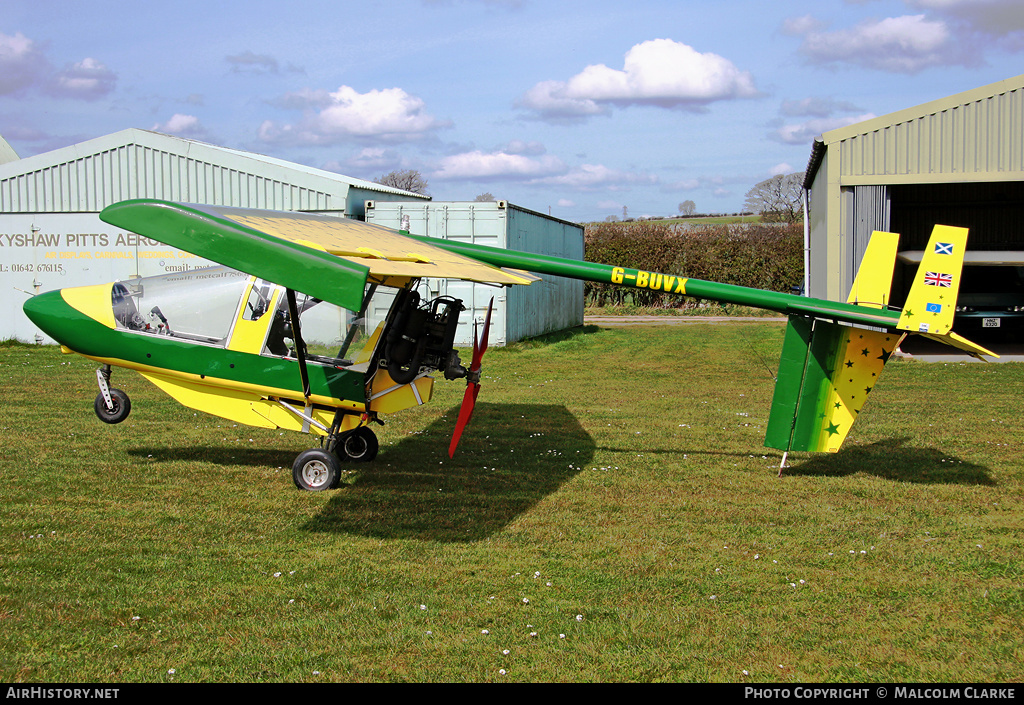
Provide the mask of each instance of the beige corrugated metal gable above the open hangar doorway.
[{"label": "beige corrugated metal gable above the open hangar doorway", "polygon": [[838,150],[844,185],[1018,180],[1024,75],[831,130],[821,140]]}]

